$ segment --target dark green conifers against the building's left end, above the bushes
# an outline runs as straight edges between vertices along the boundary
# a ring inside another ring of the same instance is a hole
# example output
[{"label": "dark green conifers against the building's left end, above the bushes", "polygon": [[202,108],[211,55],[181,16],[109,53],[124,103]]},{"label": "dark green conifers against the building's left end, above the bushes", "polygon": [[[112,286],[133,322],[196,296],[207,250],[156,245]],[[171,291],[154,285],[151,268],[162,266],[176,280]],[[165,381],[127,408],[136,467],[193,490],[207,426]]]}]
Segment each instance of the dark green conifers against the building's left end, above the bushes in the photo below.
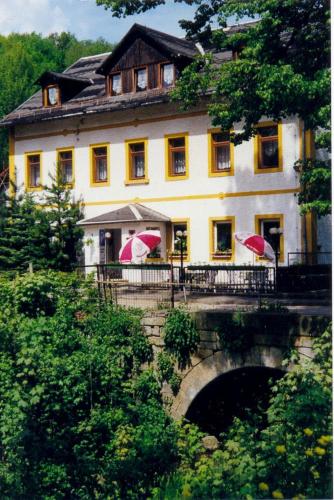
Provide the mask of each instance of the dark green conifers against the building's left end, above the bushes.
[{"label": "dark green conifers against the building's left end, above the bushes", "polygon": [[45,210],[30,194],[16,198],[0,193],[0,268],[52,268],[69,271],[82,251],[80,203],[58,176],[45,187]]}]

